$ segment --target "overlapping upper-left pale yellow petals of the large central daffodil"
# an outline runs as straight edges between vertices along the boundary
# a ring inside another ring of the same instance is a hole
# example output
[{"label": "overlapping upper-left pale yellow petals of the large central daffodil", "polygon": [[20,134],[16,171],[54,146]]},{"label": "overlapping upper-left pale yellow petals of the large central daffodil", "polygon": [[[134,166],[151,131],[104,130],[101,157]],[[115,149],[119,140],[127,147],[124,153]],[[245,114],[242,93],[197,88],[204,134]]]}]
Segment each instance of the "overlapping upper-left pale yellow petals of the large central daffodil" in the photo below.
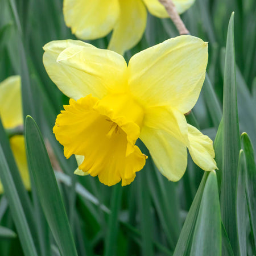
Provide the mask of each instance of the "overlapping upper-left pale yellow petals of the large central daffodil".
[{"label": "overlapping upper-left pale yellow petals of the large central daffodil", "polygon": [[44,50],[49,77],[70,98],[102,98],[127,88],[127,64],[118,53],[73,40],[48,43]]}]

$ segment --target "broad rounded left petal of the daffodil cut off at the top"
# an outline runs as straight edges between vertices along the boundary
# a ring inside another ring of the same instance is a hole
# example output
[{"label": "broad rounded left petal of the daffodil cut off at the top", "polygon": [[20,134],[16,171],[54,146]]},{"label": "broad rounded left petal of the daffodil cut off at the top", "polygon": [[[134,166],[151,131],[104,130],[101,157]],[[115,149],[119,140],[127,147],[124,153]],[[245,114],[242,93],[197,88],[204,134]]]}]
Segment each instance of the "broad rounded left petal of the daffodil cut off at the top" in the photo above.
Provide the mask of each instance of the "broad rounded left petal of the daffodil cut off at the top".
[{"label": "broad rounded left petal of the daffodil cut off at the top", "polygon": [[119,16],[118,0],[64,0],[65,23],[84,40],[102,38],[113,29]]}]

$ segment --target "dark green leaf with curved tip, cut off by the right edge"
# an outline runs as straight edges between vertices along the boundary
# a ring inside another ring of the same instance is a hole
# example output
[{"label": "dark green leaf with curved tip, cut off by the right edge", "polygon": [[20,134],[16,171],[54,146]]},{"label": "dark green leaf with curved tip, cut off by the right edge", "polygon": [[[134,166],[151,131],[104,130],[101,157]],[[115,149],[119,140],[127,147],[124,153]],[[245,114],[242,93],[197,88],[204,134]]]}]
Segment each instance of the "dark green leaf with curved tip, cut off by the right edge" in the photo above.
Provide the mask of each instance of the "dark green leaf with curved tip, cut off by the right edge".
[{"label": "dark green leaf with curved tip, cut off by the right edge", "polygon": [[254,150],[250,138],[246,133],[241,136],[243,150],[246,158],[246,199],[249,211],[251,233],[254,241],[254,254],[256,254],[256,166],[254,159]]}]

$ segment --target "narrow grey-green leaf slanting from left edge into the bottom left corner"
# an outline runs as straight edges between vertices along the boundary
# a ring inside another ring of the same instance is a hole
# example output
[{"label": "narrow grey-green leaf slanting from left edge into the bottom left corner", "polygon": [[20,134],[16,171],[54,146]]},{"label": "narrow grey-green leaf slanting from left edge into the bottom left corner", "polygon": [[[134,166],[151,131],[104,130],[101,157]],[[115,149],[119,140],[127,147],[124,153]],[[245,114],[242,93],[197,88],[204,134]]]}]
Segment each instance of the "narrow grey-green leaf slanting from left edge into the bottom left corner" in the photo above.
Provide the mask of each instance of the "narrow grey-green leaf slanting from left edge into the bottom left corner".
[{"label": "narrow grey-green leaf slanting from left edge into the bottom left corner", "polygon": [[5,155],[3,153],[2,145],[0,144],[0,179],[5,189],[5,195],[9,201],[11,214],[19,234],[19,239],[23,248],[23,252],[28,256],[38,255],[36,253],[34,241],[28,228],[28,223],[20,203],[19,195],[15,187],[13,177],[11,176],[10,168],[7,164]]}]

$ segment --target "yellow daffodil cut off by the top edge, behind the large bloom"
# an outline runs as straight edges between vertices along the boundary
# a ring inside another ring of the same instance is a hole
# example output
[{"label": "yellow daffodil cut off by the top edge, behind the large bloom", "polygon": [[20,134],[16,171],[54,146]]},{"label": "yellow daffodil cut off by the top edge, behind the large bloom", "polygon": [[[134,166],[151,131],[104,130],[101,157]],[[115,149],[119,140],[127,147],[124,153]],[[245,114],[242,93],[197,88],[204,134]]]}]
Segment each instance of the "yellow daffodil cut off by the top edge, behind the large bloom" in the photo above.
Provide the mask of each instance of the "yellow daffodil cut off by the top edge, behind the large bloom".
[{"label": "yellow daffodil cut off by the top edge, behind the large bloom", "polygon": [[[179,13],[195,0],[173,0]],[[109,49],[123,54],[141,40],[146,27],[147,10],[159,18],[167,18],[158,0],[64,0],[65,23],[77,38],[102,38],[113,30]]]}]

